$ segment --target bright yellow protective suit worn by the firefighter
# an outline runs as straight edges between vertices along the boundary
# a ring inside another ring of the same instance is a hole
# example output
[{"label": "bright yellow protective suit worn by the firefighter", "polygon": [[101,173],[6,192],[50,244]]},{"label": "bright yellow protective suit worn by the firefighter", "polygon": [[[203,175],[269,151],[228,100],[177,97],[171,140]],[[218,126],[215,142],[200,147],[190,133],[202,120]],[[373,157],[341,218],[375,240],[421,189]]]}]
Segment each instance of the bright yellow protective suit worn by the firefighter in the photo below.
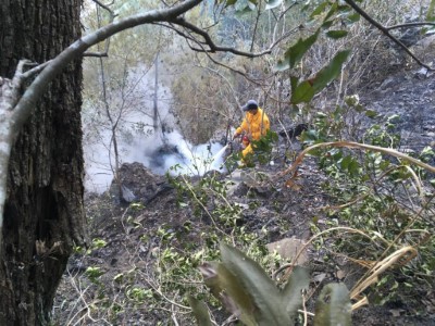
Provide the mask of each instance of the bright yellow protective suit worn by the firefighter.
[{"label": "bright yellow protective suit worn by the firefighter", "polygon": [[[236,129],[236,133],[245,133],[250,140],[259,140],[270,128],[271,123],[268,115],[261,108],[259,108],[256,114],[252,114],[249,111],[246,113],[245,118],[241,122],[241,125]],[[241,154],[246,158],[246,155],[252,152],[252,146],[249,143],[249,146],[241,151]]]}]

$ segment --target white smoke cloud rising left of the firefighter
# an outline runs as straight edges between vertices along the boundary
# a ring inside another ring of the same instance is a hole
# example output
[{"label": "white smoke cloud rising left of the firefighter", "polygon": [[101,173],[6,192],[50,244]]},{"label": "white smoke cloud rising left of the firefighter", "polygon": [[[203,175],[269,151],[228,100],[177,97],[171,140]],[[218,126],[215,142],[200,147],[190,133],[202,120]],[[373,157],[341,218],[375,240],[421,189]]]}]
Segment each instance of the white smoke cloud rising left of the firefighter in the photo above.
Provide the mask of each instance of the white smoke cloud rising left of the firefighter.
[{"label": "white smoke cloud rising left of the firefighter", "polygon": [[[144,93],[144,89],[153,89],[153,73],[135,76],[136,90]],[[134,95],[134,92],[132,92]],[[114,104],[116,103],[116,97]],[[139,97],[137,97],[139,98]],[[132,102],[133,103],[133,102]],[[154,174],[188,174],[203,175],[207,171],[222,170],[223,151],[219,142],[210,142],[192,146],[184,139],[174,126],[174,118],[170,106],[172,103],[171,92],[167,87],[159,86],[159,125],[165,125],[172,131],[163,133],[161,128],[154,133],[152,128],[151,114],[144,108],[152,106],[152,93],[140,97],[134,104],[128,105],[128,110],[122,112],[117,130],[119,153],[122,163],[142,163]],[[85,154],[85,189],[91,192],[101,193],[110,187],[113,179],[114,153],[111,141],[111,129],[108,123],[96,124],[95,121],[104,118],[104,112],[100,110],[85,112],[84,117],[84,154]],[[86,115],[87,114],[87,115]],[[91,116],[90,116],[91,115]],[[137,127],[141,126],[140,130]],[[126,136],[127,135],[127,136]],[[221,153],[220,153],[221,151]],[[120,165],[121,165],[120,164]],[[176,168],[172,168],[176,166]]]}]

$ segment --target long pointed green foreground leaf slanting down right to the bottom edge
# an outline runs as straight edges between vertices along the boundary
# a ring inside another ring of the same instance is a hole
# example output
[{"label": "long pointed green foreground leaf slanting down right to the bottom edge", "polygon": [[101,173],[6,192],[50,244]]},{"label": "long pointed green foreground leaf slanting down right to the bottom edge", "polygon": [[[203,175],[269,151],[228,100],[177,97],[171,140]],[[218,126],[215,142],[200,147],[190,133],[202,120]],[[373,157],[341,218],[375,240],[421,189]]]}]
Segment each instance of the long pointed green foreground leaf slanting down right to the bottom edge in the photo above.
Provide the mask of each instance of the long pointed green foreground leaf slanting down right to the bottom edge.
[{"label": "long pointed green foreground leaf slanting down right to the bottom edge", "polygon": [[221,255],[223,265],[252,298],[256,310],[248,313],[259,326],[293,325],[279,300],[278,289],[257,262],[225,243],[221,243]]}]

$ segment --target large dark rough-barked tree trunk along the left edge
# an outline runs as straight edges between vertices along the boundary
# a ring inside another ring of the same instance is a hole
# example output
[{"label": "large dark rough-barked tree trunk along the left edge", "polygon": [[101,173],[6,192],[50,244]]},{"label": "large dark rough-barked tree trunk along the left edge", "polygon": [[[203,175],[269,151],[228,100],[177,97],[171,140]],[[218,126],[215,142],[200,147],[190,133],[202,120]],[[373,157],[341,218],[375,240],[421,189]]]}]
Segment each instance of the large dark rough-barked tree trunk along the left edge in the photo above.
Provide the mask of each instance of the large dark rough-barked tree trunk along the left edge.
[{"label": "large dark rough-barked tree trunk along the left edge", "polygon": [[[82,0],[0,0],[0,76],[42,63],[80,35]],[[73,244],[85,239],[82,65],[58,77],[10,161],[0,258],[0,325],[48,324]]]}]

